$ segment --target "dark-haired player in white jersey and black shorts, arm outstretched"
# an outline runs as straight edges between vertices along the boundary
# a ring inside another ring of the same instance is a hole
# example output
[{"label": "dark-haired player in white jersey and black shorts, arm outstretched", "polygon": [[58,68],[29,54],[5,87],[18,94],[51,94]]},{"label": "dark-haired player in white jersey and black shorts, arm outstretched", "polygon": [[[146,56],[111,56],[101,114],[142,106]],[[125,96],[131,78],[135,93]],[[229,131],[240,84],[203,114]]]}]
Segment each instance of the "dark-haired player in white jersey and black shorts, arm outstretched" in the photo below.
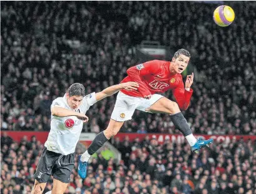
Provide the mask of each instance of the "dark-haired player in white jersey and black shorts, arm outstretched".
[{"label": "dark-haired player in white jersey and black shorts, arm outstretched", "polygon": [[53,175],[51,193],[63,194],[74,168],[74,150],[83,123],[88,121],[86,111],[97,101],[115,94],[120,89],[137,88],[138,83],[127,82],[85,96],[83,84],[74,83],[63,97],[56,98],[51,105],[51,130],[34,175],[35,183],[31,193],[43,193],[49,176]]}]

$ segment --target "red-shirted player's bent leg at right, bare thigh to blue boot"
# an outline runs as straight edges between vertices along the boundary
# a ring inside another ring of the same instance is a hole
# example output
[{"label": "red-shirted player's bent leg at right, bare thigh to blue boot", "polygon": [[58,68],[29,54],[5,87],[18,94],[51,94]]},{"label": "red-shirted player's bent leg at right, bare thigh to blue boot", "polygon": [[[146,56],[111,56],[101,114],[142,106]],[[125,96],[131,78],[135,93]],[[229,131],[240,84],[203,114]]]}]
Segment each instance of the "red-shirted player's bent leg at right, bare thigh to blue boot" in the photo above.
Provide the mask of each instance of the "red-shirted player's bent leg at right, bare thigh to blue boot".
[{"label": "red-shirted player's bent leg at right, bare thigh to blue boot", "polygon": [[209,146],[213,143],[213,140],[201,140],[196,139],[193,136],[192,130],[188,126],[187,120],[182,115],[178,104],[174,101],[168,100],[167,98],[163,97],[156,101],[153,105],[149,108],[146,108],[145,111],[150,111],[152,113],[167,113],[171,116],[172,122],[178,130],[182,132],[182,134],[187,139],[188,143],[190,144],[192,151],[198,153],[200,148],[205,146]]}]

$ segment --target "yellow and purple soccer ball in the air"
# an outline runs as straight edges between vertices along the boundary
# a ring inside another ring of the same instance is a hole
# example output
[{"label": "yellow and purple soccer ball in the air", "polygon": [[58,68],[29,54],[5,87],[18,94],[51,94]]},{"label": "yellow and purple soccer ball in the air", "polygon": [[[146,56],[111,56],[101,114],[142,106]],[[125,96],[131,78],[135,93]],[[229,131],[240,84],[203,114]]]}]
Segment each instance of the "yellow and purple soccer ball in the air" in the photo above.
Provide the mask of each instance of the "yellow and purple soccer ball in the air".
[{"label": "yellow and purple soccer ball in the air", "polygon": [[235,19],[235,13],[230,6],[219,6],[213,13],[213,19],[218,26],[229,26]]}]

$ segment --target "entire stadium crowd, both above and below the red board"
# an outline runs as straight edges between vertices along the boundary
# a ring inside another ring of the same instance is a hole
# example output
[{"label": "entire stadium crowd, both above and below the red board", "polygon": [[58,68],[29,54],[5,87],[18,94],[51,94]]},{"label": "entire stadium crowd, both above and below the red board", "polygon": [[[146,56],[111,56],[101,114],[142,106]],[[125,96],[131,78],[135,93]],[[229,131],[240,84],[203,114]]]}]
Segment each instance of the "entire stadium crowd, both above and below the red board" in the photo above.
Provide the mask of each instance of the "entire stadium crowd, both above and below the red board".
[{"label": "entire stadium crowd, both above and below the red board", "polygon": [[[256,135],[256,5],[229,4],[239,17],[220,28],[209,17],[216,4],[1,3],[1,130],[49,131],[54,98],[76,82],[86,93],[120,83],[136,64],[131,48],[151,40],[192,54],[198,74],[183,113],[193,133]],[[83,131],[105,130],[114,103],[115,96],[96,103]],[[134,118],[121,131],[179,133],[168,115],[136,111]],[[255,145],[233,140],[192,155],[188,144],[123,141],[116,144],[123,164],[99,156],[85,180],[74,170],[66,193],[256,193]],[[41,150],[36,138],[1,137],[1,193],[31,190]]]}]

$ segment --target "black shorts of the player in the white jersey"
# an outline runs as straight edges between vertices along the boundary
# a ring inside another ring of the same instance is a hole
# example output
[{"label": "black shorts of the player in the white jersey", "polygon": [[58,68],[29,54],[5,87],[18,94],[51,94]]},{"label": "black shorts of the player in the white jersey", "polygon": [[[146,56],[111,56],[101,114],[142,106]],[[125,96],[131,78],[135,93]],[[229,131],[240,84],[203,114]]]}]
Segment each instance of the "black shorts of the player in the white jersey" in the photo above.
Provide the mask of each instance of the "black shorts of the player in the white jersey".
[{"label": "black shorts of the player in the white jersey", "polygon": [[46,183],[49,176],[53,175],[56,180],[69,183],[73,168],[74,153],[62,155],[61,153],[49,151],[44,147],[34,178],[39,183]]}]

